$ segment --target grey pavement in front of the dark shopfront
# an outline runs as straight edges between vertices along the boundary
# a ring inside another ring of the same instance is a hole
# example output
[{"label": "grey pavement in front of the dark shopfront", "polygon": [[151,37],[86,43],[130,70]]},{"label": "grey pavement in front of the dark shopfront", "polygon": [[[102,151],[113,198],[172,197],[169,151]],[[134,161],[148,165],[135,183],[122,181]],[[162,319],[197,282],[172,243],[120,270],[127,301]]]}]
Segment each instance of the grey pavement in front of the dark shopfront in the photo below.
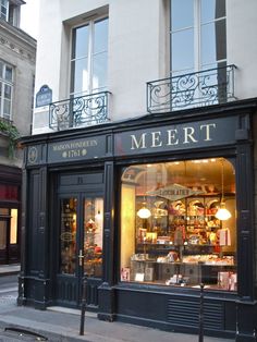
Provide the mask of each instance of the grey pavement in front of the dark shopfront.
[{"label": "grey pavement in front of the dark shopfront", "polygon": [[[85,333],[79,335],[81,312],[52,307],[36,310],[16,306],[15,297],[1,298],[0,303],[0,341],[10,335],[7,328],[25,329],[46,339],[29,341],[51,342],[197,342],[198,335],[166,332],[157,329],[133,326],[122,322],[106,322],[97,319],[95,314],[86,313]],[[16,337],[19,335],[15,332]],[[13,332],[12,335],[14,337]],[[8,340],[8,339],[7,339]],[[13,338],[14,340],[14,338]],[[4,341],[4,340],[2,340]],[[10,340],[8,340],[10,341]],[[25,340],[28,341],[28,340]],[[230,342],[221,338],[204,338],[205,342]]]}]

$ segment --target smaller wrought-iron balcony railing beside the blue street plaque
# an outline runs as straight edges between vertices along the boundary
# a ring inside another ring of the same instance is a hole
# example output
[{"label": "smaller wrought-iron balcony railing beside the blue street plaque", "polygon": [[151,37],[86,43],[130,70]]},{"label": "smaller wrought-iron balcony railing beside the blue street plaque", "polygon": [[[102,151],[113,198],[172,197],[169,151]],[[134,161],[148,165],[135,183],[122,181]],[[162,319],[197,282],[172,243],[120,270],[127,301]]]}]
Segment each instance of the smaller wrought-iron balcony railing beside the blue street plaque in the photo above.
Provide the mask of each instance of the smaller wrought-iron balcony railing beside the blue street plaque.
[{"label": "smaller wrought-iron balcony railing beside the blue street plaque", "polygon": [[49,105],[49,126],[62,131],[108,122],[109,91],[101,91]]}]

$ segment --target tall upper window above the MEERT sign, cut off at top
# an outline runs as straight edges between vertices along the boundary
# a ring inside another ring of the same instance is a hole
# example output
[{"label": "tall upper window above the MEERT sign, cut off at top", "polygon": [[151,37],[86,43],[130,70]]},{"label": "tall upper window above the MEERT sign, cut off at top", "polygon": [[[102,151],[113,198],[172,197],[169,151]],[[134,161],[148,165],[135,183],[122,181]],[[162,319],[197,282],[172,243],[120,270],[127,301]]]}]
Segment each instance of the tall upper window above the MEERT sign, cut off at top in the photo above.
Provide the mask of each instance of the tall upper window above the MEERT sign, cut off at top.
[{"label": "tall upper window above the MEERT sign, cut off at top", "polygon": [[171,0],[172,74],[227,64],[225,1]]}]

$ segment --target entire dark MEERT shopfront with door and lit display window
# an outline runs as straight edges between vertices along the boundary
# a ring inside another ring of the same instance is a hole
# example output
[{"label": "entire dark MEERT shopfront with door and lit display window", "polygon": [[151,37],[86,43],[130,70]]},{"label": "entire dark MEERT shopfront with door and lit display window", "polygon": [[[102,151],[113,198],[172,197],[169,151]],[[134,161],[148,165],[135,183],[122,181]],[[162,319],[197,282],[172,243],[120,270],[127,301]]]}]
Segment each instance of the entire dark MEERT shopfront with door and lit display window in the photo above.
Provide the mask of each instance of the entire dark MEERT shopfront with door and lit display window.
[{"label": "entire dark MEERT shopfront with door and lit display window", "polygon": [[[257,100],[23,139],[20,305],[256,341]],[[229,218],[218,218],[223,206]]]}]

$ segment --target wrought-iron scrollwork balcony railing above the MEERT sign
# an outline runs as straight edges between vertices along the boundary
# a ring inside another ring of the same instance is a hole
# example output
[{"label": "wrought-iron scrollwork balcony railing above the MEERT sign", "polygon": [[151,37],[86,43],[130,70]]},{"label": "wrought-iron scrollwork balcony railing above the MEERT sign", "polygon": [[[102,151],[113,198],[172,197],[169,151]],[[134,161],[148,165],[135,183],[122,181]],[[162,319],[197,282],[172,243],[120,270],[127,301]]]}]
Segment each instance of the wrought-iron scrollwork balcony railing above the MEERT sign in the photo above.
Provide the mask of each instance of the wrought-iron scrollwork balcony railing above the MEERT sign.
[{"label": "wrought-iron scrollwork balcony railing above the MEERT sign", "polygon": [[147,83],[147,111],[167,112],[225,103],[234,97],[235,65]]}]

